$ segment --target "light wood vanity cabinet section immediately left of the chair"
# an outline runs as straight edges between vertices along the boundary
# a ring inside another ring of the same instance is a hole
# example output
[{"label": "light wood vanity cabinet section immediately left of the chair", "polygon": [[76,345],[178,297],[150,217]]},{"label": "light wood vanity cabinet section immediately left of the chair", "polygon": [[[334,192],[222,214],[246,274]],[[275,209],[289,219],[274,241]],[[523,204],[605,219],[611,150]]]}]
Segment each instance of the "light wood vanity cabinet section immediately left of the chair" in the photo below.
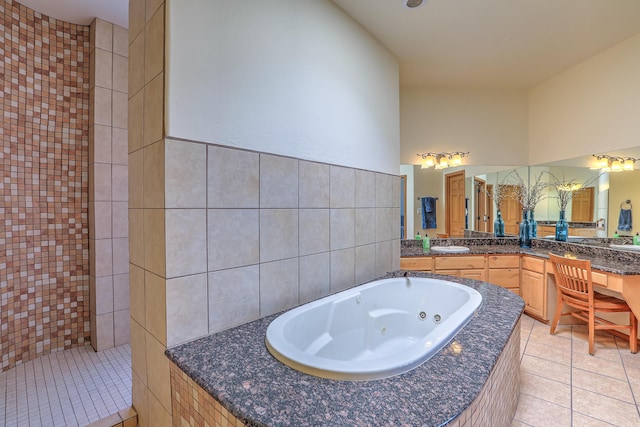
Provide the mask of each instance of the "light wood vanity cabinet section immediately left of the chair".
[{"label": "light wood vanity cabinet section immediately left of the chair", "polygon": [[522,256],[520,295],[526,304],[524,311],[527,314],[544,321],[549,320],[544,259],[529,255]]}]

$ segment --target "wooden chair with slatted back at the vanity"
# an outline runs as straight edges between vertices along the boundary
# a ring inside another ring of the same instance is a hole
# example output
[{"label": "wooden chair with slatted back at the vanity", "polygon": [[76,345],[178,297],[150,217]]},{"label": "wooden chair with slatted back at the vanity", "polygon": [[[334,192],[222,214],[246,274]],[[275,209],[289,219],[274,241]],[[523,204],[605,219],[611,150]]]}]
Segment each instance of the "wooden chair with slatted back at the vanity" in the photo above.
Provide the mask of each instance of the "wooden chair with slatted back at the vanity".
[{"label": "wooden chair with slatted back at the vanity", "polygon": [[[594,354],[596,329],[629,330],[629,348],[631,353],[638,351],[638,319],[621,299],[603,295],[593,290],[591,280],[591,262],[581,259],[569,259],[549,254],[556,277],[557,302],[556,313],[551,322],[551,334],[555,334],[561,316],[571,315],[587,322],[589,326],[589,354]],[[563,312],[563,306],[577,311]],[[612,323],[596,313],[629,312],[629,325]]]}]

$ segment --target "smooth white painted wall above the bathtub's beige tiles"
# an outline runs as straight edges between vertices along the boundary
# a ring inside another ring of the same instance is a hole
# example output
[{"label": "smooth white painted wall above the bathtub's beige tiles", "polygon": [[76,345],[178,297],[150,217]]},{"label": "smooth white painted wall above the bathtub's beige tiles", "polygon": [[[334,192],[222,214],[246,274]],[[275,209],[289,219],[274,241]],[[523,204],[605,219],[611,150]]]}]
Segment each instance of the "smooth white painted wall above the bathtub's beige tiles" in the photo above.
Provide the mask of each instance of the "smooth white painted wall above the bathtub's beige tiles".
[{"label": "smooth white painted wall above the bathtub's beige tiles", "polygon": [[171,0],[167,29],[168,136],[398,173],[398,62],[331,1]]}]

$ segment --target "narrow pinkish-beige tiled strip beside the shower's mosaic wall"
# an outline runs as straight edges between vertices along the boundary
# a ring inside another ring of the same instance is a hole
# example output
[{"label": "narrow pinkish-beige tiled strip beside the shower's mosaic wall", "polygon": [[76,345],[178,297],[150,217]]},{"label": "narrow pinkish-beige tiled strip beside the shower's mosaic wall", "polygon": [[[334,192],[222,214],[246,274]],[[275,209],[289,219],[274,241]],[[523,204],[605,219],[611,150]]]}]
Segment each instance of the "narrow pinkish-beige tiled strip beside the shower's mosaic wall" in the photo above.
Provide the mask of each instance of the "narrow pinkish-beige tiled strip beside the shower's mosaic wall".
[{"label": "narrow pinkish-beige tiled strip beside the shower's mosaic wall", "polygon": [[129,342],[128,31],[91,24],[89,240],[91,345]]}]

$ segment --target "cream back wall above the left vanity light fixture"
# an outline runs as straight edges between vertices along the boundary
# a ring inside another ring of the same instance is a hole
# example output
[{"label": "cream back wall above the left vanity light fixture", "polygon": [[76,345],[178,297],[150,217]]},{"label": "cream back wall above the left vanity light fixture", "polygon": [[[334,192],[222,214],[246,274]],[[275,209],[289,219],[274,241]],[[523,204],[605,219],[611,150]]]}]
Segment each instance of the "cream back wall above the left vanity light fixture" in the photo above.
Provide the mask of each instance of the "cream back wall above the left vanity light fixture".
[{"label": "cream back wall above the left vanity light fixture", "polygon": [[526,91],[403,88],[400,163],[417,153],[469,151],[468,165],[528,164]]}]

